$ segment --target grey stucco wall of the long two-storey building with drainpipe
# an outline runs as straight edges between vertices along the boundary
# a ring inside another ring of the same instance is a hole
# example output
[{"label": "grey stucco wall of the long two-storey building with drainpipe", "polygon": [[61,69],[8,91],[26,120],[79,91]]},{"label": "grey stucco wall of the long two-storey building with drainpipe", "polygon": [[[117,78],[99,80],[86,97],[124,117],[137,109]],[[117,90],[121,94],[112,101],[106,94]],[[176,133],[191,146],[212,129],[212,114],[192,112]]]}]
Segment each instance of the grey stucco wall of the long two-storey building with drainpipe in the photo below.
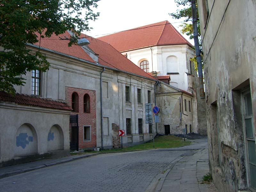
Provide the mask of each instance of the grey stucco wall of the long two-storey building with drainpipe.
[{"label": "grey stucco wall of the long two-storey building with drainpipe", "polygon": [[[92,118],[95,119],[93,122],[89,123],[92,125],[92,136],[96,134],[96,144],[93,143],[95,142],[93,139],[92,143],[83,141],[79,145],[81,148],[91,148],[95,145],[101,147],[100,72],[103,68],[53,52],[43,50],[42,52],[46,54],[47,60],[51,63],[51,67],[47,72],[42,73],[42,92],[40,97],[65,101],[71,105],[71,95],[67,98],[66,87],[70,87],[70,89],[73,88],[74,90],[81,89],[93,92],[95,95],[95,111],[93,112]],[[31,73],[28,72],[25,77],[27,78],[27,84],[25,84],[25,86],[16,86],[15,88],[17,92],[31,94],[30,77]],[[132,135],[128,138],[132,143],[149,140],[148,124],[145,123],[145,103],[148,102],[147,92],[150,90],[152,98],[151,103],[152,105],[154,104],[154,84],[156,81],[108,68],[105,68],[105,71],[102,73],[102,81],[103,123],[108,121],[107,125],[103,124],[103,129],[105,131],[108,130],[108,132],[103,133],[103,146],[105,148],[112,148],[112,124],[114,123],[117,126],[120,126],[120,129],[126,130],[126,118],[131,118],[132,121]],[[125,86],[130,87],[131,102],[125,102]],[[138,103],[137,101],[137,89],[141,89],[142,103]],[[80,104],[83,105],[83,98],[81,98],[81,95],[79,98],[81,101]],[[81,111],[79,109],[79,113],[83,113],[83,106],[80,108]],[[138,118],[143,119],[142,135],[139,135],[138,133]],[[84,124],[86,124],[86,122]],[[96,127],[96,130],[93,127]],[[154,130],[156,130],[155,127]],[[79,140],[81,140],[81,138],[83,138],[83,135],[79,136]],[[128,139],[125,136],[123,138],[123,143],[127,143]],[[83,143],[90,143],[90,145]]]}]

